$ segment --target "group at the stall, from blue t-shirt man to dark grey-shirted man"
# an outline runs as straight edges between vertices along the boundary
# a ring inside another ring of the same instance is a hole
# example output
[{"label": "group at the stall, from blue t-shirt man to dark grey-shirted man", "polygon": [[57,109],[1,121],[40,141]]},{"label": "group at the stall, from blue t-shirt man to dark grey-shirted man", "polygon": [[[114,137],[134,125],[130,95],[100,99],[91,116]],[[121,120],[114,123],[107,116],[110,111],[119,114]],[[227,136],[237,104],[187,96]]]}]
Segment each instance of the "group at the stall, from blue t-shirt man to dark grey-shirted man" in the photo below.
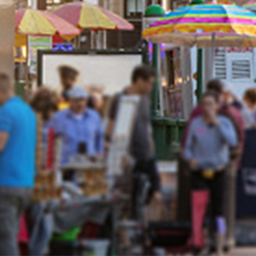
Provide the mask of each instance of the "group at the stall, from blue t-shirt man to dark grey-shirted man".
[{"label": "group at the stall, from blue t-shirt man to dark grey-shirted man", "polygon": [[[0,255],[19,255],[17,234],[20,216],[29,203],[36,172],[36,119],[43,121],[41,135],[44,151],[47,150],[50,129],[61,138],[60,167],[68,164],[76,154],[106,157],[108,153],[120,97],[117,95],[113,100],[107,132],[104,132],[99,92],[89,94],[76,86],[79,74],[74,68],[63,66],[59,72],[63,88],[61,95],[42,87],[28,103],[14,95],[10,77],[0,74],[0,175],[3,178],[0,182],[0,221],[3,223],[0,228]],[[136,159],[134,172],[148,174],[154,184],[152,196],[157,198],[160,196],[159,175],[154,159],[147,97],[155,76],[150,67],[134,68],[131,86],[124,93],[141,96],[129,151]],[[47,167],[46,164],[44,167]],[[74,173],[69,173],[67,179],[74,180],[76,177]]]}]

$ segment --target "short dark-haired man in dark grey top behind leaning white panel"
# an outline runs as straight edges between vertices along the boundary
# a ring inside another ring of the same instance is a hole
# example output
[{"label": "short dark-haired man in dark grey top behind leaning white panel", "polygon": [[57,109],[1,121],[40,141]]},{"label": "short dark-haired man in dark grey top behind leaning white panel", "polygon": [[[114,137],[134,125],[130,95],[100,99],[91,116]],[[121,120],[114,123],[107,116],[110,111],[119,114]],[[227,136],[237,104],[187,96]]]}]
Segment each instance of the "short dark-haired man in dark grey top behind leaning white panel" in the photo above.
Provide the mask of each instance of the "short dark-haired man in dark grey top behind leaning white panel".
[{"label": "short dark-haired man in dark grey top behind leaning white panel", "polygon": [[148,176],[151,182],[150,194],[159,200],[160,179],[157,170],[154,142],[152,138],[152,125],[150,120],[150,99],[156,72],[149,66],[140,65],[134,68],[131,76],[131,86],[125,88],[124,92],[116,95],[109,111],[109,124],[107,129],[107,140],[110,141],[113,127],[116,122],[120,97],[122,95],[140,95],[141,100],[136,111],[134,127],[129,143],[129,154],[135,160],[133,173],[143,173]]}]

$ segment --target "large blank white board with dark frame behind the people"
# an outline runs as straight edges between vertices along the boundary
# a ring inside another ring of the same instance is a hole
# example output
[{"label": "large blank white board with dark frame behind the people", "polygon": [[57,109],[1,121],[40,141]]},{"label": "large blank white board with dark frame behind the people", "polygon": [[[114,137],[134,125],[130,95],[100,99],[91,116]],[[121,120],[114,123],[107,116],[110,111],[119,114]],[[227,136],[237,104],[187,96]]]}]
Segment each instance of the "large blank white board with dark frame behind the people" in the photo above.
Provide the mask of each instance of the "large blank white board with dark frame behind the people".
[{"label": "large blank white board with dark frame behind the people", "polygon": [[58,67],[70,65],[80,73],[77,86],[100,86],[106,95],[120,92],[131,81],[131,72],[142,63],[140,53],[132,54],[43,54],[41,85],[61,90]]}]

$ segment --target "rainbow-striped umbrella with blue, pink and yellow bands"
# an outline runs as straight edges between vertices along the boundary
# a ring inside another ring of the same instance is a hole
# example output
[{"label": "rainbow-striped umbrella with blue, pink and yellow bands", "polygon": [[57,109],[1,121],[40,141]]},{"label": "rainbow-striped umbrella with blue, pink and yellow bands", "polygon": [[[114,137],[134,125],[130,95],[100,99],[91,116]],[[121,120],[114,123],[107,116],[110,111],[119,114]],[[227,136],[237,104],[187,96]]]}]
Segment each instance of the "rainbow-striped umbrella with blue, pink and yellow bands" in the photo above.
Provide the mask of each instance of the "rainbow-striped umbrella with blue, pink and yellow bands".
[{"label": "rainbow-striped umbrella with blue, pink and yellow bands", "polygon": [[164,15],[143,31],[154,43],[211,47],[255,47],[256,15],[246,8],[198,4]]}]

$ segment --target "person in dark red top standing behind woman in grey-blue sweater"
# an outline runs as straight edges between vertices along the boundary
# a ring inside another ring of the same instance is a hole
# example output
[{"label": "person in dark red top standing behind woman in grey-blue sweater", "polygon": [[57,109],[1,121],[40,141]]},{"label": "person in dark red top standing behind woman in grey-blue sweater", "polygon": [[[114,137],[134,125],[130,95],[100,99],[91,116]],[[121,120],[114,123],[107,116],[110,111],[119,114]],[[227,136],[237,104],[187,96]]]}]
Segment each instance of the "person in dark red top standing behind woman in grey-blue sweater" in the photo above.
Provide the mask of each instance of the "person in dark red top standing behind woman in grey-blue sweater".
[{"label": "person in dark red top standing behind woman in grey-blue sweater", "polygon": [[[239,101],[236,101],[235,97],[230,91],[230,86],[223,83],[223,81],[221,81],[220,79],[212,79],[207,83],[206,88],[207,91],[214,92],[218,96],[218,113],[220,115],[226,116],[232,122],[236,130],[238,139],[236,147],[230,148],[230,162],[228,166],[229,171],[227,172],[228,178],[226,180],[226,196],[228,198],[225,207],[225,216],[227,220],[226,245],[228,248],[232,248],[235,244],[236,177],[244,148],[244,123],[239,107],[237,107],[239,105]],[[186,140],[191,122],[193,122],[193,120],[198,116],[202,116],[204,113],[203,110],[204,109],[202,104],[198,104],[198,106],[196,106],[196,108],[193,109],[191,116],[188,120],[188,125],[183,134],[182,147],[186,145]]]}]

